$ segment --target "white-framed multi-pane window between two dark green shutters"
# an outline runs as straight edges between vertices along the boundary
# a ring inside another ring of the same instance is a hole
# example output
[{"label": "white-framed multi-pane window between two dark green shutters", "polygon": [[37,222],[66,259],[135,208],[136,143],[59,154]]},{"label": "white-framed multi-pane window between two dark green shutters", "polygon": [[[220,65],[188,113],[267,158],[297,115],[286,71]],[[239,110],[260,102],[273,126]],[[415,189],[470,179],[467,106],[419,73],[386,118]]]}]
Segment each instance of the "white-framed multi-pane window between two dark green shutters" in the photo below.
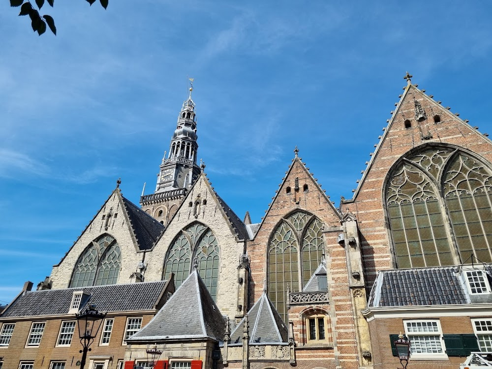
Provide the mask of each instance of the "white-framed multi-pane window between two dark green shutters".
[{"label": "white-framed multi-pane window between two dark green shutters", "polygon": [[439,320],[404,320],[410,359],[447,359]]}]

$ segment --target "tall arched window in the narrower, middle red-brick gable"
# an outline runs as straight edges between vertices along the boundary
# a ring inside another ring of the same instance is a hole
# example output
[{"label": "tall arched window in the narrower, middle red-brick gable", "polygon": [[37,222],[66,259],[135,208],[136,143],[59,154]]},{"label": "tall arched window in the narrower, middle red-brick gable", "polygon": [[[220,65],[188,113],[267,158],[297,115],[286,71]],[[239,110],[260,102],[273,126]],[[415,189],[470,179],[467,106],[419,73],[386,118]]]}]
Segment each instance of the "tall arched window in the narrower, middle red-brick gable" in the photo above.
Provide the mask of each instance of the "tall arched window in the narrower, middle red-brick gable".
[{"label": "tall arched window in the narrower, middle red-brick gable", "polygon": [[284,318],[287,284],[301,291],[316,271],[323,253],[323,223],[314,215],[296,211],[274,230],[268,245],[268,296]]}]

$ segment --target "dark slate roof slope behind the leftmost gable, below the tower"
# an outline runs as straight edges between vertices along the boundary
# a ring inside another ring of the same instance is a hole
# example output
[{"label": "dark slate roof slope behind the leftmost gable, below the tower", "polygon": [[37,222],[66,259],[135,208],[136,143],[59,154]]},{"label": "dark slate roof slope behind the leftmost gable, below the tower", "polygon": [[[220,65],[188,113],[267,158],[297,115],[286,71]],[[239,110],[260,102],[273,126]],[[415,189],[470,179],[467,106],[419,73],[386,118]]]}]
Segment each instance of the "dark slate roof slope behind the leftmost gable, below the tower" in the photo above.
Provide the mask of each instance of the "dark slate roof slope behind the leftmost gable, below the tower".
[{"label": "dark slate roof slope behind the leftmost gable, below the tower", "polygon": [[137,239],[140,250],[151,249],[159,236],[164,232],[164,226],[152,216],[142,211],[130,200],[123,198],[123,205],[130,220],[131,227]]}]

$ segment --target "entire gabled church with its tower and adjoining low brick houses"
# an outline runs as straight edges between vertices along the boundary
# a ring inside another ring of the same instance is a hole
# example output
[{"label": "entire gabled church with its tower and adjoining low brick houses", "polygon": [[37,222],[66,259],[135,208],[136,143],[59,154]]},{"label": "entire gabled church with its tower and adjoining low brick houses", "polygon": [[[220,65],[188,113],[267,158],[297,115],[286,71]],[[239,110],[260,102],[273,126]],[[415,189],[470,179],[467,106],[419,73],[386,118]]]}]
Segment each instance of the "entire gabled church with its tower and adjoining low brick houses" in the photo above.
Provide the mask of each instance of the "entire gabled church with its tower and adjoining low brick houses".
[{"label": "entire gabled church with its tower and adjoining low brick houses", "polygon": [[197,164],[191,84],[155,191],[137,206],[119,180],[1,312],[0,369],[452,369],[492,353],[492,142],[404,78],[351,199],[337,207],[295,147],[256,222]]}]

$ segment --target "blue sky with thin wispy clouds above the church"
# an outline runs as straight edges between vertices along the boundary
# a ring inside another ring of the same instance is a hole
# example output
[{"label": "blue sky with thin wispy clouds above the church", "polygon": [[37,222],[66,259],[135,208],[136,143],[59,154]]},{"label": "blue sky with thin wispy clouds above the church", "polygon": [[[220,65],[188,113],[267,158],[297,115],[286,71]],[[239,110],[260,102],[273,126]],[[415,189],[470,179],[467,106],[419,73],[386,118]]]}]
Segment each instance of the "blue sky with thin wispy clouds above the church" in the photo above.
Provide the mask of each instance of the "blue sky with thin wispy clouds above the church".
[{"label": "blue sky with thin wispy clouds above the church", "polygon": [[56,37],[0,5],[0,303],[50,274],[119,177],[137,204],[153,190],[187,75],[198,157],[253,221],[296,145],[337,206],[351,197],[406,70],[492,134],[489,1],[45,6]]}]

